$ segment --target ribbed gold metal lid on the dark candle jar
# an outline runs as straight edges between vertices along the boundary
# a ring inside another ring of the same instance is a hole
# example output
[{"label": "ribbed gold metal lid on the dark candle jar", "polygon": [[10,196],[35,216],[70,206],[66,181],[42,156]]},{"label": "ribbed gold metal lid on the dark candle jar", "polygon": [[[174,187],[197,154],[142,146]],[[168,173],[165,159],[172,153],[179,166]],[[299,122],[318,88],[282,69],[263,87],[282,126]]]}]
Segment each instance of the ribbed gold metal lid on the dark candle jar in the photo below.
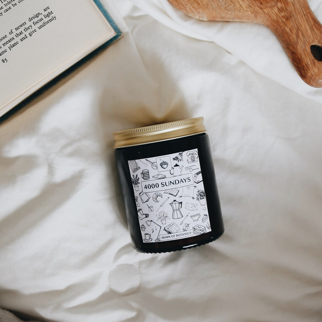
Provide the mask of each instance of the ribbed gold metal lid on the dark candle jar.
[{"label": "ribbed gold metal lid on the dark candle jar", "polygon": [[204,133],[204,118],[188,118],[181,121],[150,125],[143,128],[114,132],[114,147],[129,147],[132,145],[169,140],[177,137]]}]

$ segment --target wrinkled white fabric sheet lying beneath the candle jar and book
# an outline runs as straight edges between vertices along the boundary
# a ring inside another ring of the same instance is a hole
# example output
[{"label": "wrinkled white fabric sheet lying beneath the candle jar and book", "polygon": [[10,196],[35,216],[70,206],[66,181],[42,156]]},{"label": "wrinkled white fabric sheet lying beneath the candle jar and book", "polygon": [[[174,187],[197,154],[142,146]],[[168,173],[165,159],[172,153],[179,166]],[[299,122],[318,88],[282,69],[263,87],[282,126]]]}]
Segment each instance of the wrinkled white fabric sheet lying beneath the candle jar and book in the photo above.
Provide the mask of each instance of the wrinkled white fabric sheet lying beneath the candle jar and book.
[{"label": "wrinkled white fabric sheet lying beneath the candle jar and book", "polygon": [[[103,3],[123,37],[0,124],[0,307],[59,322],[320,321],[322,89],[261,25]],[[321,21],[322,0],[309,4]],[[112,132],[197,116],[225,233],[138,253]]]}]

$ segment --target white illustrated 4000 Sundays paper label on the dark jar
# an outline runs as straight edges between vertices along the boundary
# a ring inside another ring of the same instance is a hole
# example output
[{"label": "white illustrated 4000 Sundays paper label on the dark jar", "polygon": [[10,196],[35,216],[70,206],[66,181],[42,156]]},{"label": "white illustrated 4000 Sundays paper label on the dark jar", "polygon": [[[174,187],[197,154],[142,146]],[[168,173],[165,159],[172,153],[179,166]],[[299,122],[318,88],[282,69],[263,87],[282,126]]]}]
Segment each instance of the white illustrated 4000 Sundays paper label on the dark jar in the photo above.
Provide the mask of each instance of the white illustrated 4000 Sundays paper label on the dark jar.
[{"label": "white illustrated 4000 Sundays paper label on the dark jar", "polygon": [[143,242],[211,231],[197,150],[128,161]]}]

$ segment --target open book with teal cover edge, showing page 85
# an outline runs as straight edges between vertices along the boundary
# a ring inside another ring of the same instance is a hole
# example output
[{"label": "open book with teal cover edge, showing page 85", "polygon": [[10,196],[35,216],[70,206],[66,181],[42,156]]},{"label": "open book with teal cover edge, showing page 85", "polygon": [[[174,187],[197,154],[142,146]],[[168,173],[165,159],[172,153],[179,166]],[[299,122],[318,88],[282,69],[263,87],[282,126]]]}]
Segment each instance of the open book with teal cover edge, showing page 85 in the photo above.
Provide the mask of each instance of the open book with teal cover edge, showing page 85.
[{"label": "open book with teal cover edge, showing page 85", "polygon": [[0,0],[0,116],[120,36],[99,0]]}]

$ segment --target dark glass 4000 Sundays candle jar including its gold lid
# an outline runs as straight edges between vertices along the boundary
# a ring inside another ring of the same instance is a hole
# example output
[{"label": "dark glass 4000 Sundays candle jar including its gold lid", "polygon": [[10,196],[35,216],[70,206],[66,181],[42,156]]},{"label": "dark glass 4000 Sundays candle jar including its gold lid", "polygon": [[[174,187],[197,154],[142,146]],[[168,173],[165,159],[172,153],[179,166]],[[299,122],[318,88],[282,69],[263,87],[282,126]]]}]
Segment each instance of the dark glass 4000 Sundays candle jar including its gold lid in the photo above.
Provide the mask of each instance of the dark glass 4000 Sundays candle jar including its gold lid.
[{"label": "dark glass 4000 Sundays candle jar including its gold lid", "polygon": [[137,251],[219,238],[223,219],[204,118],[113,133],[128,229]]}]

